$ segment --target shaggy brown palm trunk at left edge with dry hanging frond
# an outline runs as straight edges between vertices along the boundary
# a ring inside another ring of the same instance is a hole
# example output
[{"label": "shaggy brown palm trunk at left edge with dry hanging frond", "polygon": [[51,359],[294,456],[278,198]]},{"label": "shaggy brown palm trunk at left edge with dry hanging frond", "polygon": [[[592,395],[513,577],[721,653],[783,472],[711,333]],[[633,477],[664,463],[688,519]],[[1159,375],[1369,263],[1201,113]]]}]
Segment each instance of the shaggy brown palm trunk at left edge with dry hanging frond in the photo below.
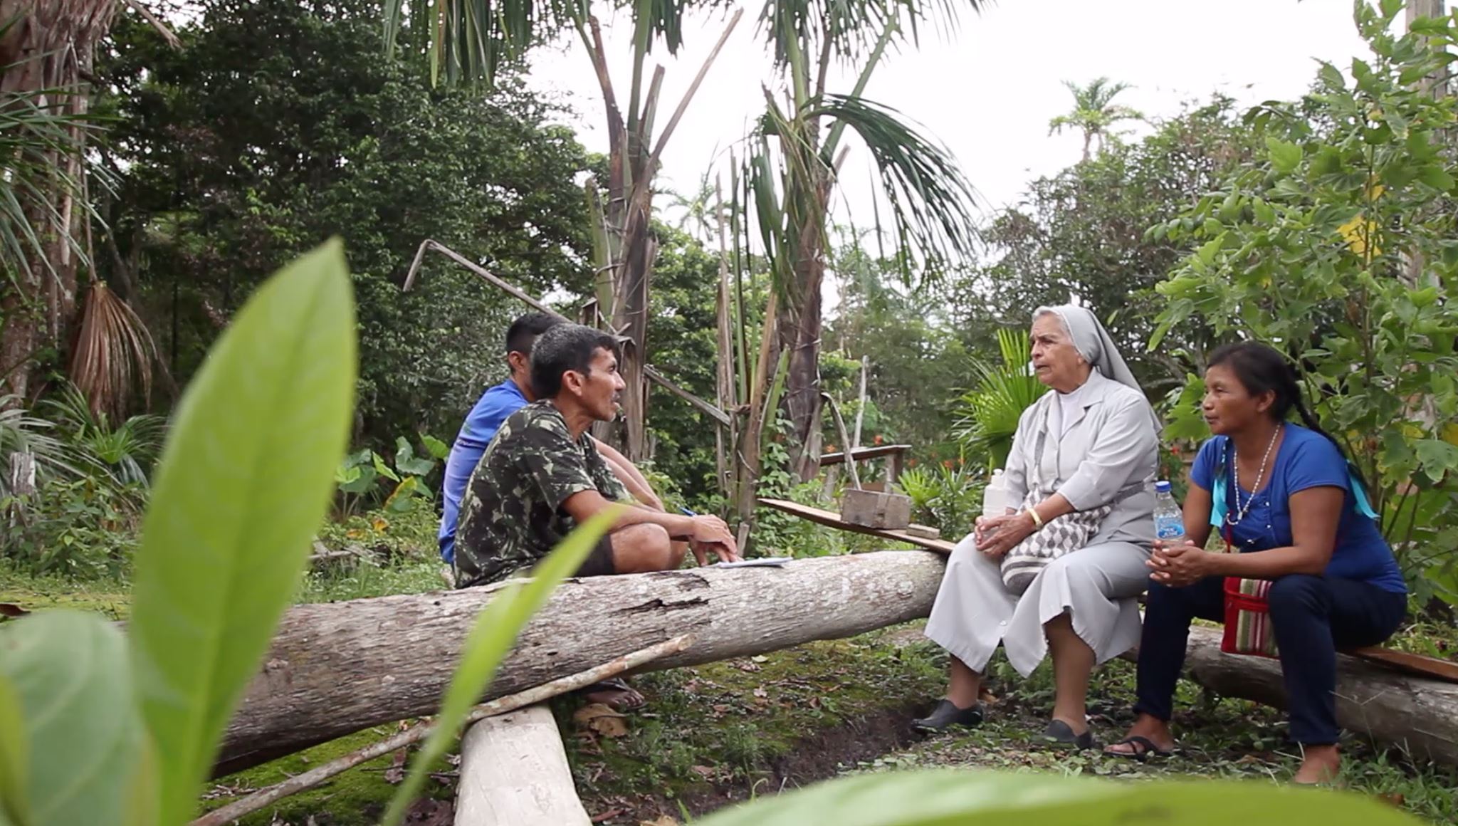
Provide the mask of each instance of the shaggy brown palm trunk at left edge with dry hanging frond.
[{"label": "shaggy brown palm trunk at left edge with dry hanging frond", "polygon": [[[71,377],[93,410],[117,414],[136,384],[150,385],[155,352],[141,320],[89,264],[87,197],[96,169],[86,144],[92,61],[117,0],[0,0],[0,407],[32,394],[36,353],[82,328]],[[176,45],[172,32],[133,6]],[[85,232],[83,232],[85,231]],[[77,273],[90,271],[77,317]]]}]

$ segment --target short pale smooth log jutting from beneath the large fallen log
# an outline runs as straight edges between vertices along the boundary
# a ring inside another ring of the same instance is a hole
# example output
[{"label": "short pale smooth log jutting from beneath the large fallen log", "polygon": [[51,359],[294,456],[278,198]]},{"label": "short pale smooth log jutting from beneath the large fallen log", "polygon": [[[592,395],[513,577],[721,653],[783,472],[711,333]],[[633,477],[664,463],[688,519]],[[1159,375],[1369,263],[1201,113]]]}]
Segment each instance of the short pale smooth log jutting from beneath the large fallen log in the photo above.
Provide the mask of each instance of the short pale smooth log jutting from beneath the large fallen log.
[{"label": "short pale smooth log jutting from beneath the large fallen log", "polygon": [[461,737],[455,826],[590,826],[545,705],[488,717]]}]

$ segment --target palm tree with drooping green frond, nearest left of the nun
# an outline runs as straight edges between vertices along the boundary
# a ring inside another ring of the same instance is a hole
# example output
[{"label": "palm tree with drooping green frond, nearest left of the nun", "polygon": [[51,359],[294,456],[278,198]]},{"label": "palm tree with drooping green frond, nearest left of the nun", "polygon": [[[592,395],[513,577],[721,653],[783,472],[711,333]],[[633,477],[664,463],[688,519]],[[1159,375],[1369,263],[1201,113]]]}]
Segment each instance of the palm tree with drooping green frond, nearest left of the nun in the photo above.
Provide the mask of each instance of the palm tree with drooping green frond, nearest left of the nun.
[{"label": "palm tree with drooping green frond, nearest left of the nun", "polygon": [[[847,133],[870,153],[882,201],[875,235],[878,242],[889,239],[889,257],[900,261],[908,283],[914,269],[935,279],[945,264],[972,251],[972,187],[956,161],[900,112],[862,96],[889,45],[907,32],[914,42],[926,22],[954,26],[962,6],[977,10],[981,1],[771,0],[761,15],[784,93],[776,96],[765,88],[765,112],[748,142],[744,191],[736,198],[746,215],[745,232],[752,223],[754,242],[770,264],[773,339],[787,356],[783,403],[802,479],[818,467],[821,290],[830,201],[849,152]],[[860,66],[846,93],[828,88],[833,60]],[[886,228],[881,226],[882,204]],[[771,356],[765,363],[776,360]]]}]

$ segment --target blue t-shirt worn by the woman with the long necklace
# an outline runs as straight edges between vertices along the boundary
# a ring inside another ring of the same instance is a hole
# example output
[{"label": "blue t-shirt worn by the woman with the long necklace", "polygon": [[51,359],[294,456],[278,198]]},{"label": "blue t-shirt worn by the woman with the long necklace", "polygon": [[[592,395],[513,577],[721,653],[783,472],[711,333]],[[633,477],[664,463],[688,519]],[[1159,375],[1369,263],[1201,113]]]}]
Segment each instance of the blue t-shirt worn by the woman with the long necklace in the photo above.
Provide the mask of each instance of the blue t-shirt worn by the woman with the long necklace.
[{"label": "blue t-shirt worn by the woman with the long necklace", "polygon": [[[1215,436],[1207,441],[1200,448],[1194,467],[1190,468],[1190,479],[1200,487],[1213,490],[1215,476],[1223,470],[1220,483],[1229,486],[1225,502],[1235,515],[1239,508],[1233,493],[1233,470],[1229,467],[1233,464],[1233,451],[1228,442],[1229,436]],[[1222,454],[1228,466],[1223,468]],[[1255,480],[1241,482],[1251,485]],[[1255,495],[1255,502],[1241,524],[1229,528],[1233,544],[1242,553],[1290,546],[1290,496],[1308,487],[1340,487],[1346,492],[1341,521],[1337,524],[1337,544],[1325,575],[1371,582],[1384,591],[1406,594],[1403,571],[1397,566],[1392,549],[1382,539],[1376,521],[1357,512],[1347,460],[1331,439],[1299,425],[1286,425],[1286,438],[1282,439],[1271,463],[1270,485]],[[1239,493],[1241,506],[1247,502],[1247,493],[1244,489]],[[1222,536],[1223,530],[1222,527]]]}]

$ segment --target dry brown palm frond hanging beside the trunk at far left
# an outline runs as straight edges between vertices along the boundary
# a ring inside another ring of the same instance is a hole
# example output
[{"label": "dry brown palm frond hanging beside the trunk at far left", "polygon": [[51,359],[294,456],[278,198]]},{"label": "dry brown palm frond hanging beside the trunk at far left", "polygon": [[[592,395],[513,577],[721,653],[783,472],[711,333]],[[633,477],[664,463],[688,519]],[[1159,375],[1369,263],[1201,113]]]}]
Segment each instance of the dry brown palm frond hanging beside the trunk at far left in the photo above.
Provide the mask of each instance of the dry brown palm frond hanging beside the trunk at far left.
[{"label": "dry brown palm frond hanging beside the trunk at far left", "polygon": [[152,395],[156,343],[141,318],[105,283],[93,280],[82,306],[82,324],[71,353],[71,382],[95,414],[120,419],[140,384]]}]

